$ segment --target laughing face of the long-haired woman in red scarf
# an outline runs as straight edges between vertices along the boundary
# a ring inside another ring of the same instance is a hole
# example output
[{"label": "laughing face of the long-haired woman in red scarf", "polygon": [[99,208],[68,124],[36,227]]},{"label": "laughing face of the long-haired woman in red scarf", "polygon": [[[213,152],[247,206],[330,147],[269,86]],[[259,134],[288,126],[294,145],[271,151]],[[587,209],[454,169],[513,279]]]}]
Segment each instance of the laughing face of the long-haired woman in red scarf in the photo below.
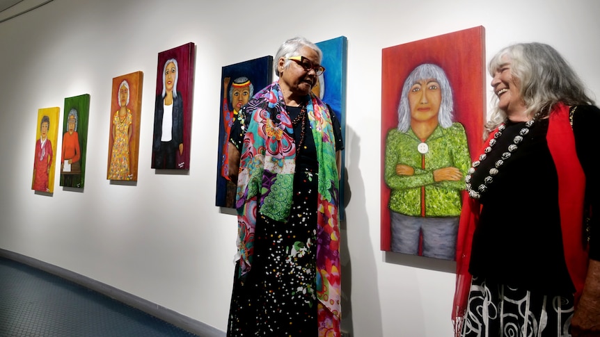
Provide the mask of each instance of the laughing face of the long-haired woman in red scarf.
[{"label": "laughing face of the long-haired woman in red scarf", "polygon": [[526,110],[525,101],[521,97],[521,84],[512,76],[510,60],[506,57],[503,57],[502,60],[505,62],[494,70],[491,86],[498,96],[498,108],[508,116],[518,115]]}]

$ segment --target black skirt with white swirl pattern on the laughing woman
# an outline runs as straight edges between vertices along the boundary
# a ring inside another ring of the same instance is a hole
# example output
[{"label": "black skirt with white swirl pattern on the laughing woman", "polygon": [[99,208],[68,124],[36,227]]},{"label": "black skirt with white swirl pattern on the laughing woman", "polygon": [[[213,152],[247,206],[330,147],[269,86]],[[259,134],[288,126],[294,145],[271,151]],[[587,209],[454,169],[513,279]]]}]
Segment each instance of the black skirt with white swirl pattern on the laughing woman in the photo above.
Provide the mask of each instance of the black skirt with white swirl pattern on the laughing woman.
[{"label": "black skirt with white swirl pattern on the laughing woman", "polygon": [[461,336],[570,337],[573,302],[473,277]]}]

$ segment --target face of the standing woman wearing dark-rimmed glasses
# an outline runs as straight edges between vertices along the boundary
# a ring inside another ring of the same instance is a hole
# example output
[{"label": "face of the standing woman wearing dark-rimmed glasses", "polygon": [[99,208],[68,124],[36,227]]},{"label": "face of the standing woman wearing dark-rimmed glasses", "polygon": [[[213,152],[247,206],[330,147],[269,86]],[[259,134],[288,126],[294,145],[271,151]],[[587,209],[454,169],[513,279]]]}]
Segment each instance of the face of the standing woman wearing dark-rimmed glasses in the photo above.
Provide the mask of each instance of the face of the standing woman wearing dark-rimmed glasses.
[{"label": "face of the standing woman wearing dark-rimmed glasses", "polygon": [[[312,65],[319,64],[319,54],[313,49],[308,47],[303,47],[300,49],[300,56],[304,56]],[[310,92],[310,89],[313,88],[315,83],[319,80],[317,79],[317,73],[315,69],[309,69],[306,71],[302,65],[299,65],[297,62],[290,60],[290,64],[287,68],[283,69],[283,64],[285,64],[287,60],[285,58],[280,58],[278,60],[278,65],[280,67],[279,72],[279,81],[283,82],[287,86],[287,88],[295,95],[306,95]]]}]

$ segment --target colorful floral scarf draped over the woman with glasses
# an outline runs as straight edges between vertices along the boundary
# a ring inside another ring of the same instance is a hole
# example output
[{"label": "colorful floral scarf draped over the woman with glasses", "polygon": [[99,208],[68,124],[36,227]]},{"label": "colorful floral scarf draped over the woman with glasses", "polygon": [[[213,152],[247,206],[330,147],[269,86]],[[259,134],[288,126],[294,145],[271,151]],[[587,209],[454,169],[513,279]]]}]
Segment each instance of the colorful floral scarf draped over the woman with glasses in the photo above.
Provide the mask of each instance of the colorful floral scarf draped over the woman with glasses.
[{"label": "colorful floral scarf draped over the woman with glasses", "polygon": [[[248,129],[237,184],[240,275],[252,265],[257,211],[287,222],[292,206],[296,145],[292,120],[279,83],[261,90],[244,106]],[[313,132],[319,180],[317,195],[317,309],[319,336],[340,336],[340,229],[335,138],[326,105],[311,94],[306,106]]]}]

